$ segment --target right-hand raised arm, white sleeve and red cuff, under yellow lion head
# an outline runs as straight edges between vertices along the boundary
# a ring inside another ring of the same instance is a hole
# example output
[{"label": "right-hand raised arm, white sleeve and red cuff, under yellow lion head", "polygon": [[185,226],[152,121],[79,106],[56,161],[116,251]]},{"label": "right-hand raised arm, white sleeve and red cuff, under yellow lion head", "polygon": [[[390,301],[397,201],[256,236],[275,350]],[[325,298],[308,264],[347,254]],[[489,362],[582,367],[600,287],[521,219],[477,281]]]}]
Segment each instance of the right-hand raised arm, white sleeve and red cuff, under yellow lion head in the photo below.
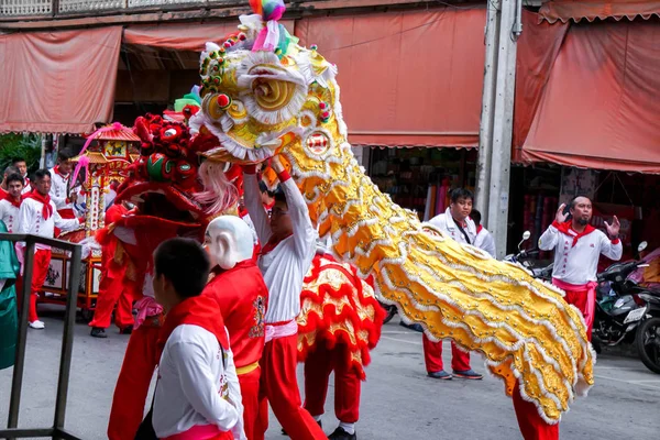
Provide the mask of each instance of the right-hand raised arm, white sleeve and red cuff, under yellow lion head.
[{"label": "right-hand raised arm, white sleeve and red cuff, under yellow lion head", "polygon": [[298,254],[298,257],[304,258],[310,255],[311,250],[316,249],[316,239],[318,234],[311,224],[309,209],[300,194],[300,189],[298,189],[298,186],[284,166],[282,166],[277,157],[273,157],[272,164],[275,172],[277,172],[282,190],[286,196],[286,205],[294,227],[296,253]]}]

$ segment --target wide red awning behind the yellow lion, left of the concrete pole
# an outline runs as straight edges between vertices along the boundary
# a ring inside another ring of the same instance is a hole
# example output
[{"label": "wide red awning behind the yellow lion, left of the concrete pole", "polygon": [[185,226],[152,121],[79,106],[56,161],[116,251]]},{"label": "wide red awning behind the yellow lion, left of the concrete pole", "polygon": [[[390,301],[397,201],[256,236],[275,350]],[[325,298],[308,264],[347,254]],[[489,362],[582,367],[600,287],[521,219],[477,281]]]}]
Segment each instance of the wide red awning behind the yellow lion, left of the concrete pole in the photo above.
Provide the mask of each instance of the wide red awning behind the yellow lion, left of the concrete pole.
[{"label": "wide red awning behind the yellow lion, left of the concrete pole", "polygon": [[339,68],[353,144],[479,144],[485,9],[311,18],[296,35]]}]

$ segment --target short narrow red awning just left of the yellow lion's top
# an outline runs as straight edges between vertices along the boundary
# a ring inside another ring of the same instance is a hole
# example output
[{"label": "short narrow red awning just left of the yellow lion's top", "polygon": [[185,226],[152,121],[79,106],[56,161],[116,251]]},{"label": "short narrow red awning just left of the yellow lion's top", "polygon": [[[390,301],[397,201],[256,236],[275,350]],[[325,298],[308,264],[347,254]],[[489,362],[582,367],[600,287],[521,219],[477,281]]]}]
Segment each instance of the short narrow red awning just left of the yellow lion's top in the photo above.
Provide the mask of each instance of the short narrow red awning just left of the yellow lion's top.
[{"label": "short narrow red awning just left of the yellow lion's top", "polygon": [[[293,20],[280,20],[279,23],[293,32]],[[201,52],[206,42],[220,42],[224,36],[238,32],[238,25],[235,18],[223,23],[136,24],[125,29],[123,42],[175,51]]]}]

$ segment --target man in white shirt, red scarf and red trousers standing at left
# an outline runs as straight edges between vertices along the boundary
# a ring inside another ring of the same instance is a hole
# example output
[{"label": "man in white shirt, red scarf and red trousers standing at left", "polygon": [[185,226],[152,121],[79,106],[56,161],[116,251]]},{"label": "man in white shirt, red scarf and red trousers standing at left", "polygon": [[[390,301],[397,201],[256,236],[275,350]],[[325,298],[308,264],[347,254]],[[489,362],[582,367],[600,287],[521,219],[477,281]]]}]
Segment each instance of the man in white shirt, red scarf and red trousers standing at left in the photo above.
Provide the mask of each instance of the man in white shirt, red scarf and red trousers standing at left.
[{"label": "man in white shirt, red scarf and red trousers standing at left", "polygon": [[[41,235],[47,239],[54,237],[55,228],[64,231],[76,229],[80,221],[78,219],[63,219],[51,197],[51,173],[47,169],[38,169],[34,174],[34,190],[28,193],[19,210],[19,226],[16,233]],[[36,315],[36,298],[38,290],[46,280],[48,266],[51,264],[51,246],[36,244],[34,253],[34,265],[32,270],[32,296],[30,297],[30,327],[41,330],[45,326]],[[20,292],[20,290],[19,290]]]}]

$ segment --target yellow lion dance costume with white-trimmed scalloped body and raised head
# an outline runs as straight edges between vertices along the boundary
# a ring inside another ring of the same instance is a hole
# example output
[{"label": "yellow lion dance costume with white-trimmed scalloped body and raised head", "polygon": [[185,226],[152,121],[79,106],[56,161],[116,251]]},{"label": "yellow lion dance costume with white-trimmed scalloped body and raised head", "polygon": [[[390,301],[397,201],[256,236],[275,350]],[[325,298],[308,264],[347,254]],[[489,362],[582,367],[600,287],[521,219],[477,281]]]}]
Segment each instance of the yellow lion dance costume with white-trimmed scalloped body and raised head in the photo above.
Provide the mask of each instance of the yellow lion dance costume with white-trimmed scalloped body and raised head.
[{"label": "yellow lion dance costume with white-trimmed scalloped body and raised head", "polygon": [[481,353],[507,394],[519,380],[522,397],[558,422],[593,385],[579,310],[525,268],[454,242],[382,194],[351,152],[337,66],[274,21],[241,22],[201,55],[202,106],[190,124],[219,140],[207,160],[286,158],[334,255],[373,275],[376,294],[431,339]]}]

